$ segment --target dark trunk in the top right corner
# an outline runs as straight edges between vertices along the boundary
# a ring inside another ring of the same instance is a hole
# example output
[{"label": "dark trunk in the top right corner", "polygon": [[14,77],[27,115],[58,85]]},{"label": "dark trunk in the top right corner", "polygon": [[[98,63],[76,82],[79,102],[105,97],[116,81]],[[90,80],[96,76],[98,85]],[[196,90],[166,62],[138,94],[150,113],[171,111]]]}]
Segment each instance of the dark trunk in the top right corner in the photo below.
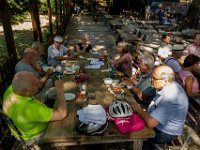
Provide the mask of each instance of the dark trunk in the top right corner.
[{"label": "dark trunk in the top right corner", "polygon": [[185,19],[183,21],[184,27],[198,27],[200,13],[200,0],[193,0],[189,5]]}]

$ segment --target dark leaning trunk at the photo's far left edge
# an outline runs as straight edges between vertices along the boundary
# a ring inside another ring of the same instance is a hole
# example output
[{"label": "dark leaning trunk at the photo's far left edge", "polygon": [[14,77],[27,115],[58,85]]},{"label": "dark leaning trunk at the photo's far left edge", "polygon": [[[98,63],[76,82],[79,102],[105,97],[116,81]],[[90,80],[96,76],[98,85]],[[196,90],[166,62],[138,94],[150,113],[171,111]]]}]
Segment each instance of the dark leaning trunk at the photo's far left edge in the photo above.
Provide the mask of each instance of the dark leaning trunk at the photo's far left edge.
[{"label": "dark leaning trunk at the photo's far left edge", "polygon": [[0,18],[2,19],[8,55],[9,58],[13,61],[13,65],[15,65],[17,62],[17,52],[15,47],[15,41],[13,38],[13,32],[10,21],[10,12],[8,9],[7,0],[0,1]]}]

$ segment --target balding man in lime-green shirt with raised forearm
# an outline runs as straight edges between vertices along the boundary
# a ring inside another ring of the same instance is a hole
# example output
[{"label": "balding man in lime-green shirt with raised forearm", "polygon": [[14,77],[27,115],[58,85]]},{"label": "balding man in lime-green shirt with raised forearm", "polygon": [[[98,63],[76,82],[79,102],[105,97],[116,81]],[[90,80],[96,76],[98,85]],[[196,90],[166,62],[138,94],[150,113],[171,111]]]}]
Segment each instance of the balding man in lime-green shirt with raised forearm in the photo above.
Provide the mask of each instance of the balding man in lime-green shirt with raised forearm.
[{"label": "balding man in lime-green shirt with raised forearm", "polygon": [[67,116],[62,80],[55,81],[57,102],[54,109],[33,97],[39,91],[39,85],[40,81],[33,73],[22,71],[14,76],[12,85],[3,97],[3,112],[30,146],[40,142],[50,121],[62,120]]}]

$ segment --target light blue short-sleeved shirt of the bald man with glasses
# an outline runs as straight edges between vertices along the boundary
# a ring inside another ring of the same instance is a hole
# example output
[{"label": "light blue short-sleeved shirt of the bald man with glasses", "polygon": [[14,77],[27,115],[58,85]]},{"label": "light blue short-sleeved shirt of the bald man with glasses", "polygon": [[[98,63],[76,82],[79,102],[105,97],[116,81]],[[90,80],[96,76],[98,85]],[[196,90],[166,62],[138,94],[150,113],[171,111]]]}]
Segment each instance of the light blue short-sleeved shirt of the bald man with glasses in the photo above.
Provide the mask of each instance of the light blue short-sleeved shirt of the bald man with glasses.
[{"label": "light blue short-sleeved shirt of the bald man with glasses", "polygon": [[157,91],[147,112],[159,122],[156,129],[170,135],[181,135],[188,112],[188,97],[184,89],[173,82]]}]

